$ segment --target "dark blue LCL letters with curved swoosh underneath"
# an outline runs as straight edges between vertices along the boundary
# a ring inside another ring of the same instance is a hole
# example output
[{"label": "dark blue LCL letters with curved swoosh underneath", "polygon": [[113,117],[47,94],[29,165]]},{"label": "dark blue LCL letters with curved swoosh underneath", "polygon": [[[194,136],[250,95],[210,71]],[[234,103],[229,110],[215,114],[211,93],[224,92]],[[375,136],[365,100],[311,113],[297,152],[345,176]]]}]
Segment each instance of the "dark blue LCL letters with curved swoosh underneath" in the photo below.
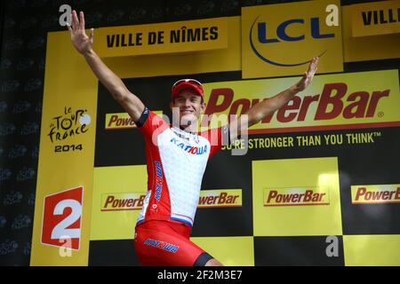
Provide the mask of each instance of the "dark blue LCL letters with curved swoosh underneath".
[{"label": "dark blue LCL letters with curved swoosh underneath", "polygon": [[[337,10],[334,13],[337,14]],[[332,14],[328,15],[328,17],[332,18]],[[331,21],[328,19],[328,17],[326,18],[326,24],[328,26],[337,26],[337,24],[328,24],[328,22]],[[252,22],[252,28],[250,28],[249,42],[252,47],[252,51],[261,60],[267,62],[268,64],[279,67],[296,67],[308,64],[310,60],[300,63],[282,63],[282,62],[276,62],[275,60],[272,59],[268,59],[263,54],[261,54],[260,48],[257,49],[253,38],[256,38],[256,40],[258,41],[257,46],[260,45],[267,46],[266,44],[304,41],[306,37],[307,38],[311,37],[316,40],[322,40],[326,38],[332,38],[335,36],[335,34],[333,33],[321,32],[321,20],[318,17],[310,18],[308,21],[306,21],[305,19],[285,20],[284,22],[277,25],[276,28],[265,21],[258,21],[259,19],[260,15]],[[293,28],[299,28],[299,26],[301,27],[301,29],[297,35],[294,35],[293,32],[289,32],[289,30],[292,30]],[[255,27],[257,27],[256,33],[254,32]],[[271,30],[273,30],[273,33],[270,32]],[[274,32],[275,36],[268,37],[268,35],[274,34]],[[318,56],[319,57],[323,56],[325,52],[326,51],[322,51]]]}]

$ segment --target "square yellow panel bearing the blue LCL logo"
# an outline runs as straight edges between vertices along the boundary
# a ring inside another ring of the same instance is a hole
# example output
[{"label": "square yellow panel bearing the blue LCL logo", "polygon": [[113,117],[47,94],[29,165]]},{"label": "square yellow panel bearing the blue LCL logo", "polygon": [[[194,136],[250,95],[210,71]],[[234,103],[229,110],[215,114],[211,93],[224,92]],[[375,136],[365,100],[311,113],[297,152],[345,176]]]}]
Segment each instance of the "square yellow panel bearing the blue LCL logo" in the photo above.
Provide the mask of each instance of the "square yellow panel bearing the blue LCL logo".
[{"label": "square yellow panel bearing the blue LCL logo", "polygon": [[300,75],[316,56],[320,73],[343,70],[339,0],[242,8],[244,78]]}]

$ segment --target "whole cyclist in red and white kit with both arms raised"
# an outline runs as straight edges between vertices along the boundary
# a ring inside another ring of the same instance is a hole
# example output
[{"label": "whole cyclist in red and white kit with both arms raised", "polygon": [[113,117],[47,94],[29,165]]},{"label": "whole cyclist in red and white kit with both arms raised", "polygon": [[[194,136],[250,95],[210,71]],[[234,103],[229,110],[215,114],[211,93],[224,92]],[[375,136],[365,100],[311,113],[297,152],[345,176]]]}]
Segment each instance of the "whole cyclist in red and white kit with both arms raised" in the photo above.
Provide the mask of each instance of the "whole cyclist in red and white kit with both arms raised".
[{"label": "whole cyclist in red and white kit with both arms raised", "polygon": [[170,106],[173,116],[179,117],[179,125],[170,125],[144,106],[93,51],[93,28],[87,36],[84,12],[79,13],[78,19],[76,11],[73,11],[72,24],[67,26],[76,51],[84,56],[94,75],[116,102],[130,114],[146,141],[148,192],[137,220],[134,239],[140,263],[222,265],[189,239],[205,166],[222,145],[237,138],[244,128],[260,122],[303,91],[316,73],[318,58],[311,60],[308,71],[298,83],[252,106],[243,115],[244,120],[198,133],[196,121],[205,109],[201,83],[183,79],[172,85]]}]

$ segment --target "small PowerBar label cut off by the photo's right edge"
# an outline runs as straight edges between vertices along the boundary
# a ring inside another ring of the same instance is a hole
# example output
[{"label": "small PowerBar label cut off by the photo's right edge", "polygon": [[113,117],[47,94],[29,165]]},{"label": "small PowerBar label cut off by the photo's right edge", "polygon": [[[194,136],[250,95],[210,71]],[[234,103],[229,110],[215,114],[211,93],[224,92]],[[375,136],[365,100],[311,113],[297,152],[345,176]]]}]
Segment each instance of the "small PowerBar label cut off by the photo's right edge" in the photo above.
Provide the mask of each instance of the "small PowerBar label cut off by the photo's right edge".
[{"label": "small PowerBar label cut off by the photo's right edge", "polygon": [[400,203],[400,185],[351,185],[353,204]]}]

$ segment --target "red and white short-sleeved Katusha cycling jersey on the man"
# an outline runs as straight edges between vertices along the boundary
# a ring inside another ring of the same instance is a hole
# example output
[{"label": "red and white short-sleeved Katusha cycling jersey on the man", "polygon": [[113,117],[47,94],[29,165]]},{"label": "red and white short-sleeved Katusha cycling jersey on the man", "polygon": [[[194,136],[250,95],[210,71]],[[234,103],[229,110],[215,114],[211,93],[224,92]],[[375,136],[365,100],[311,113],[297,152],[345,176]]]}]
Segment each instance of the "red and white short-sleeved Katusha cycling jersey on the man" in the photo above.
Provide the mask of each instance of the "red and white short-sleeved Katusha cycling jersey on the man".
[{"label": "red and white short-sleeved Katusha cycling jersey on the man", "polygon": [[193,225],[207,161],[222,146],[228,126],[189,133],[149,111],[138,129],[146,141],[148,193],[137,225],[148,220]]}]

